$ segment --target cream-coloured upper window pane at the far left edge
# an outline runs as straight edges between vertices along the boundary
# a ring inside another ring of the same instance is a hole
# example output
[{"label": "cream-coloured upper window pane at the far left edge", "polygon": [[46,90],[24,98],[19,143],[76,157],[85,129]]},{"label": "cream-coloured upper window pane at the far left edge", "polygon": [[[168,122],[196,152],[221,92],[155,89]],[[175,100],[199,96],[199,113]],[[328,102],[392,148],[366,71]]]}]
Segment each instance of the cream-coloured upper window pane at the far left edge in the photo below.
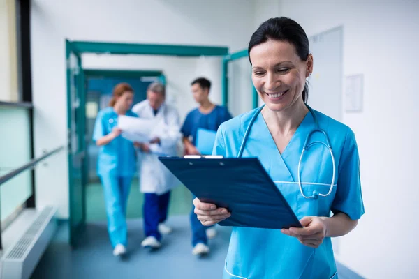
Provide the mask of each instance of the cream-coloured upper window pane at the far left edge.
[{"label": "cream-coloured upper window pane at the far left edge", "polygon": [[16,1],[0,0],[0,101],[17,102]]}]

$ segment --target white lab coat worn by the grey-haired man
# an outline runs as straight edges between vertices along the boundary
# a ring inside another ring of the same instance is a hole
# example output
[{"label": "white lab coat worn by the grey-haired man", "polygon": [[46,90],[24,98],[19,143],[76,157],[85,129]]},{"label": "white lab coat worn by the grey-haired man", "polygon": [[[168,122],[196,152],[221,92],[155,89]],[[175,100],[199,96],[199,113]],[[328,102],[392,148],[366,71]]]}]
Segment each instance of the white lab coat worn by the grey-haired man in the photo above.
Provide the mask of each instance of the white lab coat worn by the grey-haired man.
[{"label": "white lab coat worn by the grey-haired man", "polygon": [[181,138],[179,113],[175,107],[163,103],[154,116],[148,100],[134,105],[133,112],[142,119],[154,119],[154,134],[160,138],[159,144],[149,144],[150,153],[138,152],[140,174],[140,191],[163,195],[175,186],[180,185],[176,177],[159,161],[156,153],[177,156],[177,144]]}]

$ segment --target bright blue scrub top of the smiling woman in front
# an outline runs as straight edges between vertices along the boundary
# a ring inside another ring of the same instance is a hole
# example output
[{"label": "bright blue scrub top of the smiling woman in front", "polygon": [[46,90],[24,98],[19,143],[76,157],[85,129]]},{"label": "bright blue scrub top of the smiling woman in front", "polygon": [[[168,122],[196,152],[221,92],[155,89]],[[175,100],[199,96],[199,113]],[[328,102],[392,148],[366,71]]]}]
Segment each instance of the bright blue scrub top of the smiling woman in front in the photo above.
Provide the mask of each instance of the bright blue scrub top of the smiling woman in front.
[{"label": "bright blue scrub top of the smiling woman in front", "polygon": [[[252,110],[223,123],[216,135],[214,155],[237,157]],[[302,197],[298,182],[298,161],[302,146],[316,126],[310,112],[295,131],[288,146],[279,153],[262,114],[253,123],[242,157],[258,157],[270,174],[297,218],[304,216],[331,216],[344,212],[358,220],[364,214],[360,184],[360,161],[355,135],[351,128],[320,112],[316,112],[320,128],[330,138],[336,163],[336,184],[332,193],[318,199]],[[310,142],[325,142],[321,133],[315,133]],[[301,163],[301,181],[304,195],[326,194],[332,182],[332,158],[323,144],[307,149]],[[338,278],[330,238],[318,248],[302,245],[296,238],[277,229],[233,227],[224,269],[227,278]]]}]

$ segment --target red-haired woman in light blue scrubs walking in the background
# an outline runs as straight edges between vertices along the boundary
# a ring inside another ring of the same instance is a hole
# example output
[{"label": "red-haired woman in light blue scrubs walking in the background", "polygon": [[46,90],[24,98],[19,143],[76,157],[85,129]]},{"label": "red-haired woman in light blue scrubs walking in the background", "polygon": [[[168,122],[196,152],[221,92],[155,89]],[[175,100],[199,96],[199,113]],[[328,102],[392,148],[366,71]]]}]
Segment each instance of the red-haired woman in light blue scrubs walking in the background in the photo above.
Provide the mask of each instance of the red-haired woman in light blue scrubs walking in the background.
[{"label": "red-haired woman in light blue scrubs walking in the background", "polygon": [[110,107],[98,112],[93,140],[101,146],[98,154],[98,176],[103,184],[108,232],[114,255],[126,252],[126,202],[136,169],[135,149],[124,139],[117,127],[119,115],[137,117],[131,112],[133,89],[129,84],[117,84]]}]

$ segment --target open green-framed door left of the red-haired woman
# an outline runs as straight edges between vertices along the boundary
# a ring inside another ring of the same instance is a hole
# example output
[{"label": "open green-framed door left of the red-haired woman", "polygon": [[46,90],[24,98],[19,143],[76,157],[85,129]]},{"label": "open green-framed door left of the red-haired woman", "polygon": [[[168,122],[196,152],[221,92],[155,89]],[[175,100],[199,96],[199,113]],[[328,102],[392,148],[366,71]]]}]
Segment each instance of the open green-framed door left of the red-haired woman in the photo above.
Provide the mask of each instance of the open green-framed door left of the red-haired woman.
[{"label": "open green-framed door left of the red-haired woman", "polygon": [[85,124],[84,124],[84,75],[80,55],[66,41],[67,62],[67,124],[68,124],[68,186],[70,244],[75,247],[85,223],[84,191],[85,173]]}]

